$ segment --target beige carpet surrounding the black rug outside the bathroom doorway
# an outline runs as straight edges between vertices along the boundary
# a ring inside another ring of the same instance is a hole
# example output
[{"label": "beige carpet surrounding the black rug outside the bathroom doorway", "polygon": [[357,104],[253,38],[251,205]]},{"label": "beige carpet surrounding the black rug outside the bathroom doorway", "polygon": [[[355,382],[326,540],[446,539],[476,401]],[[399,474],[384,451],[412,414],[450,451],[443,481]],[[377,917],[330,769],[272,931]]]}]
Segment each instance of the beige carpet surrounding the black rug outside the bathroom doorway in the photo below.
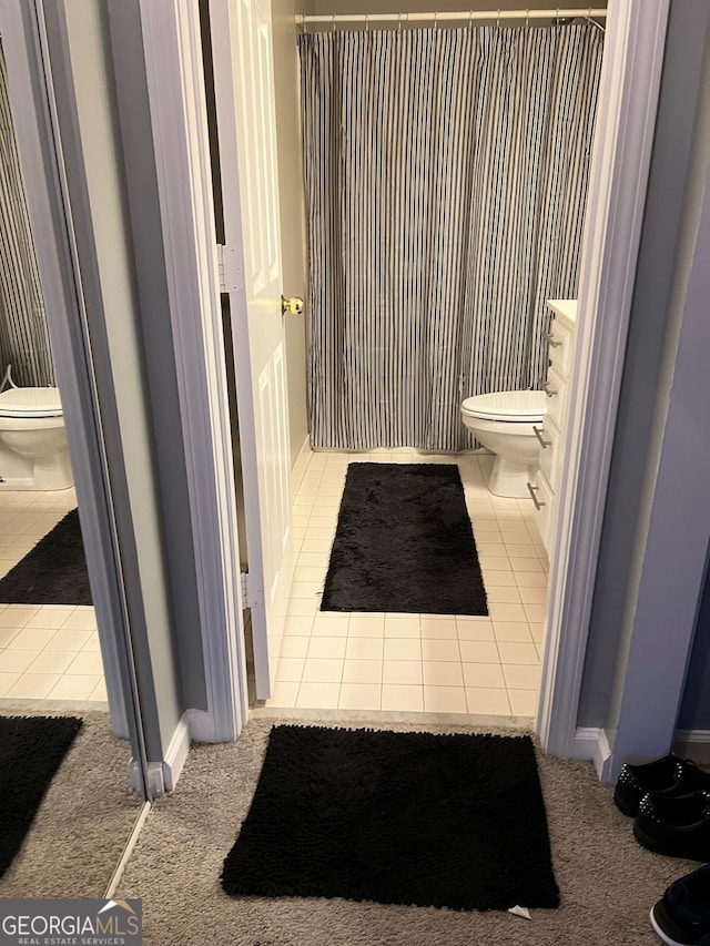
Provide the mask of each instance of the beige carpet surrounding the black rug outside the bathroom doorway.
[{"label": "beige carpet surrounding the black rug outside the bathroom doorway", "polygon": [[220,887],[222,862],[248,810],[274,722],[252,720],[236,743],[193,749],[178,791],[151,812],[120,884],[120,896],[143,898],[145,944],[658,946],[648,912],[671,881],[698,866],[639,847],[631,822],[590,764],[540,756],[561,892],[557,911],[534,911],[527,920],[508,913],[227,897]]}]

